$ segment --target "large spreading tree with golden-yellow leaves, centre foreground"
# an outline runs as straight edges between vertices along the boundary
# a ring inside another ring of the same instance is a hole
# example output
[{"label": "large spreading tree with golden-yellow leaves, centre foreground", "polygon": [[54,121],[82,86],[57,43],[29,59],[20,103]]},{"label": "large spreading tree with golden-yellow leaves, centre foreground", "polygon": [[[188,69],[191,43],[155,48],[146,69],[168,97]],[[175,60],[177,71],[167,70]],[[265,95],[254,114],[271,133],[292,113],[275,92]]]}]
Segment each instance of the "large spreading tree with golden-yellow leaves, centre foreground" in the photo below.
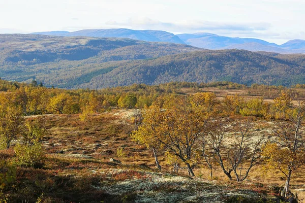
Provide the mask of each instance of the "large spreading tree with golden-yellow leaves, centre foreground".
[{"label": "large spreading tree with golden-yellow leaves, centre foreground", "polygon": [[201,155],[199,139],[214,113],[215,104],[215,94],[207,92],[190,98],[172,98],[163,105],[164,109],[152,105],[145,109],[143,124],[133,137],[148,148],[157,145],[159,149],[178,157],[187,166],[189,175],[195,176],[193,168]]}]

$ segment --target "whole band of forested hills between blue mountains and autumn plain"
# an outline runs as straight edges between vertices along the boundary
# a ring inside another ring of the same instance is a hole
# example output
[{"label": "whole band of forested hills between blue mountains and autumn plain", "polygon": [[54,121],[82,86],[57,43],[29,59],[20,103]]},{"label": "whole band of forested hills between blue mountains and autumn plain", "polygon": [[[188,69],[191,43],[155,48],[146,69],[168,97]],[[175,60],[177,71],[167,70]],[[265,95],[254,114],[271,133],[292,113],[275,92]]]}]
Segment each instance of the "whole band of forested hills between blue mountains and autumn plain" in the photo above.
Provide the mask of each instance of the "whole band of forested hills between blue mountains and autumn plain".
[{"label": "whole band of forested hills between blue mountains and autumn plain", "polygon": [[62,88],[134,83],[232,81],[291,86],[305,83],[305,56],[117,38],[0,35],[0,77]]}]

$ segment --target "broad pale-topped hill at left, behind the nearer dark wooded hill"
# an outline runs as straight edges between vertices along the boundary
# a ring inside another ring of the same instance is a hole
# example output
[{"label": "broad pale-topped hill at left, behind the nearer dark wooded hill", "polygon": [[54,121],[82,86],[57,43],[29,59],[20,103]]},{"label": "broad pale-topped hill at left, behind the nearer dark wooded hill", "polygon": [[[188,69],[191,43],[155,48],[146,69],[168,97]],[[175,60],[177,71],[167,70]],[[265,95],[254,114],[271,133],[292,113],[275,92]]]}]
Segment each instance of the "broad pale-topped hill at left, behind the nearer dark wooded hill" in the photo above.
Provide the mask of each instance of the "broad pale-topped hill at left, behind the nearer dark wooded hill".
[{"label": "broad pale-topped hill at left, behind the nearer dark wooded hill", "polygon": [[[128,47],[128,49],[124,49]],[[36,64],[59,60],[82,60],[107,55],[113,59],[119,52],[126,59],[146,59],[199,50],[189,45],[144,42],[128,38],[55,37],[43,35],[0,35],[0,64]],[[115,51],[114,51],[115,50]],[[107,52],[111,52],[107,54]],[[124,57],[123,57],[124,58]]]}]

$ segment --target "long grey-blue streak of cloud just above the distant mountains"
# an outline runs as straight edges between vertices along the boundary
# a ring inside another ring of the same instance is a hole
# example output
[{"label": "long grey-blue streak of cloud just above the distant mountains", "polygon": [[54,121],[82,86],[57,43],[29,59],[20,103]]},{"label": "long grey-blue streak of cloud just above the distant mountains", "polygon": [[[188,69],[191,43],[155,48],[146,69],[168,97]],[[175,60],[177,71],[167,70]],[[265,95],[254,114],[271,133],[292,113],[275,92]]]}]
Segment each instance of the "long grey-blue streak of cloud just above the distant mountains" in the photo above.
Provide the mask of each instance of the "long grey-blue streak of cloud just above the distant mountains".
[{"label": "long grey-blue streak of cloud just above the distant mountains", "polygon": [[212,21],[180,21],[161,22],[150,18],[129,18],[125,22],[108,21],[107,25],[129,26],[134,29],[162,29],[172,32],[194,32],[194,31],[265,31],[271,27],[270,23],[228,23]]}]

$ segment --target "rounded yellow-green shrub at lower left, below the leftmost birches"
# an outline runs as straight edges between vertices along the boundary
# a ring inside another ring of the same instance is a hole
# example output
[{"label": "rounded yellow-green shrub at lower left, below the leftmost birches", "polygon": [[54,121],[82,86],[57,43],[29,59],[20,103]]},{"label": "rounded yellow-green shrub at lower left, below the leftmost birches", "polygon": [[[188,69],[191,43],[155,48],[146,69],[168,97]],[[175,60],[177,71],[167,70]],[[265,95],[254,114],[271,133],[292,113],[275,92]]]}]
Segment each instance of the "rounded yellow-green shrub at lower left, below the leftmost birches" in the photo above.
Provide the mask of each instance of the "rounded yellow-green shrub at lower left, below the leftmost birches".
[{"label": "rounded yellow-green shrub at lower left, below the leftmost birches", "polygon": [[23,167],[40,167],[43,165],[44,152],[40,144],[15,146],[15,163]]}]

